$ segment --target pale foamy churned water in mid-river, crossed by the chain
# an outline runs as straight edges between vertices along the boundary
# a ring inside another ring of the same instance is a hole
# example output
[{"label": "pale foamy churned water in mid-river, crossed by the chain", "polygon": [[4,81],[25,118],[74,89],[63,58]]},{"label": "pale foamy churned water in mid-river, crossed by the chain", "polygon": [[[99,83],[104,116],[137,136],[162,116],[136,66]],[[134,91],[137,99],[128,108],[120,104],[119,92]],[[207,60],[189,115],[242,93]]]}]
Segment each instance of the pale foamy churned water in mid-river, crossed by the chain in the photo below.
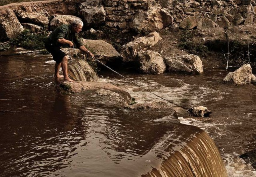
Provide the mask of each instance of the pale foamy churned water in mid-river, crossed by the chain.
[{"label": "pale foamy churned water in mid-river, crossed by the chain", "polygon": [[[131,80],[139,86],[136,86],[135,84],[132,84],[124,79],[111,79],[109,82],[125,89],[132,97],[136,99],[137,103],[163,101],[163,99],[160,98],[162,97],[178,105],[181,105],[184,102],[188,102],[186,104],[190,105],[199,105],[201,100],[207,100],[207,93],[216,92],[216,90],[205,87],[198,87],[198,89],[194,89],[196,85],[186,84],[178,79],[172,80],[175,80],[175,82],[178,81],[180,87],[167,87],[152,80],[145,80],[144,78],[136,78],[136,80]],[[148,91],[151,91],[160,97],[157,97]],[[218,97],[218,99],[221,98],[222,97]]]}]

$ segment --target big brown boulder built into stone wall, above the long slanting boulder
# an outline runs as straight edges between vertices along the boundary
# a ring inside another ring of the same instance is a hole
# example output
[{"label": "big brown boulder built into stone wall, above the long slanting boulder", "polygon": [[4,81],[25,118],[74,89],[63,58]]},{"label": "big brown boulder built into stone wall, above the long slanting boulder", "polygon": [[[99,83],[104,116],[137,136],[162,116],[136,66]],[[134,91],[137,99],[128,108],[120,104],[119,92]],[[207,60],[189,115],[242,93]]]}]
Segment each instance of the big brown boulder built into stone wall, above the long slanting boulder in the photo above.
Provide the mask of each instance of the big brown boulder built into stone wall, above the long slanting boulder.
[{"label": "big brown boulder built into stone wall, above the long slanting boulder", "polygon": [[173,22],[173,17],[164,9],[158,7],[149,10],[139,10],[130,22],[130,28],[138,33],[154,32],[165,28]]}]

